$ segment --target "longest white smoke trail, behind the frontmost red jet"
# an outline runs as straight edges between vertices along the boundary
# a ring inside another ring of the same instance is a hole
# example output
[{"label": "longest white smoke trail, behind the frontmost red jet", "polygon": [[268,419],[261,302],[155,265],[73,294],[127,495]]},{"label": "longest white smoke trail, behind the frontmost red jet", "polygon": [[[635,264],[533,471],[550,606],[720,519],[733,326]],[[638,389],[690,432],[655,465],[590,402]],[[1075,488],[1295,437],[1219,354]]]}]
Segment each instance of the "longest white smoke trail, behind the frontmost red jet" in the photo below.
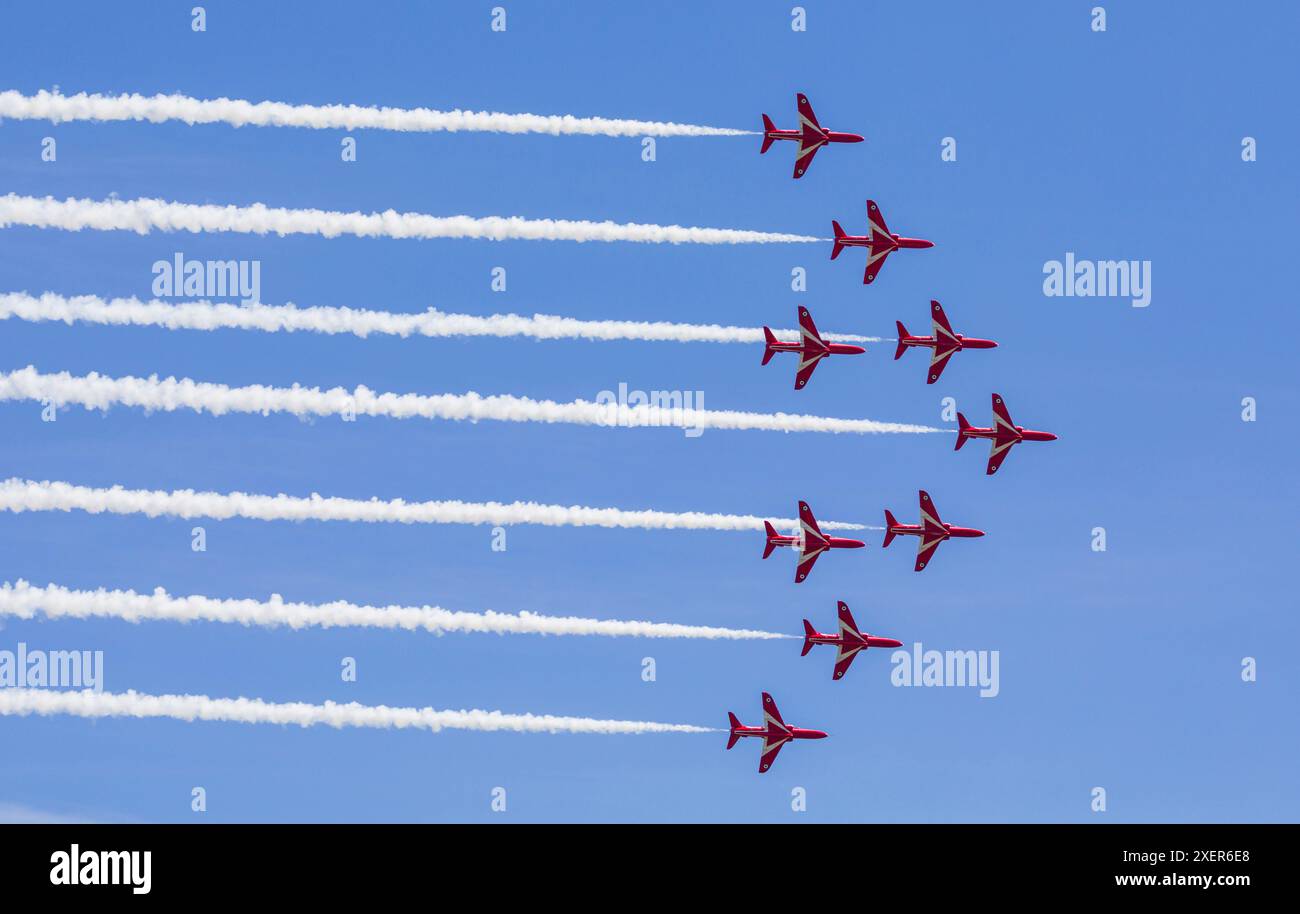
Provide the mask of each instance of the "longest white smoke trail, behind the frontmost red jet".
[{"label": "longest white smoke trail, behind the frontmost red jet", "polygon": [[385,416],[389,419],[495,420],[503,423],[566,423],[615,428],[671,426],[682,429],[731,429],[763,432],[824,432],[832,434],[924,434],[944,432],[928,425],[881,423],[874,419],[832,419],[785,412],[741,412],[737,410],[698,410],[685,407],[682,397],[676,404],[640,403],[629,406],[610,402],[534,400],[528,397],[493,394],[391,394],[376,393],[365,386],[346,387],[268,387],[260,384],[228,387],[190,378],[156,374],[139,377],[105,377],[91,372],[83,377],[58,372],[42,374],[34,367],[0,373],[0,400],[29,399],[60,406],[78,403],[87,410],[108,410],[114,404],[140,407],[147,411],[192,410],[213,416],[229,412],[285,412],[298,417],[311,416]]}]

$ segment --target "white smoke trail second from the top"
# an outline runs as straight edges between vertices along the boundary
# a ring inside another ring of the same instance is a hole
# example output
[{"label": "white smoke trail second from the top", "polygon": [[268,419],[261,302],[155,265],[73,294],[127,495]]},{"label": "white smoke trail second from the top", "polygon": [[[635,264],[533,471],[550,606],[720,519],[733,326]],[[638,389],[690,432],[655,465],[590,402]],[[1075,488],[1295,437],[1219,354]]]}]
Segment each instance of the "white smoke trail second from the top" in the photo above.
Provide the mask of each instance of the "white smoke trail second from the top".
[{"label": "white smoke trail second from the top", "polygon": [[359,238],[486,238],[489,241],[641,242],[647,244],[779,244],[823,238],[744,229],[699,229],[637,222],[523,218],[519,216],[426,216],[343,213],[326,209],[280,209],[170,203],[168,200],[87,200],[52,196],[0,196],[0,228],[81,231],[238,231],[276,235],[356,235]]}]

